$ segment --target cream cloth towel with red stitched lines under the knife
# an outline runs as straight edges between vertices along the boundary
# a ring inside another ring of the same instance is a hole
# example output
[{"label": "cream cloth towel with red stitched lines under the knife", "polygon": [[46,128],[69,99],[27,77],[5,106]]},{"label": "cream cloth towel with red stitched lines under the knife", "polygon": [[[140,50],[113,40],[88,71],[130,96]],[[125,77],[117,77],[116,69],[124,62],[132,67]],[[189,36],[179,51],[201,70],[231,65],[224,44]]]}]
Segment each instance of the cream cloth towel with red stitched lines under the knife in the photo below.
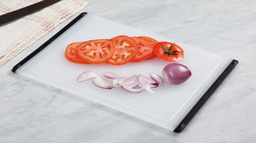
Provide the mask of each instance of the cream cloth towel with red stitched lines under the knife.
[{"label": "cream cloth towel with red stitched lines under the knife", "polygon": [[[42,0],[0,0],[0,15]],[[62,0],[19,20],[0,26],[0,67],[60,22],[85,8],[81,0]]]}]

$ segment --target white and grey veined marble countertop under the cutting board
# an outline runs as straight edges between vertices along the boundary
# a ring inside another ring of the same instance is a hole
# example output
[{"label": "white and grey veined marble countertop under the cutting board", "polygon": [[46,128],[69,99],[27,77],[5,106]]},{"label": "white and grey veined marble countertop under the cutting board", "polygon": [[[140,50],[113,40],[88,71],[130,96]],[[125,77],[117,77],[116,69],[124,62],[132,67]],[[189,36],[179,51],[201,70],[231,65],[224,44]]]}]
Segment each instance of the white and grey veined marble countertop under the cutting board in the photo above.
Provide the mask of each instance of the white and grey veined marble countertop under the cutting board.
[{"label": "white and grey veined marble countertop under the cutting board", "polygon": [[0,67],[0,142],[256,142],[256,1],[87,0],[81,12],[239,61],[181,133],[11,72],[67,25]]}]

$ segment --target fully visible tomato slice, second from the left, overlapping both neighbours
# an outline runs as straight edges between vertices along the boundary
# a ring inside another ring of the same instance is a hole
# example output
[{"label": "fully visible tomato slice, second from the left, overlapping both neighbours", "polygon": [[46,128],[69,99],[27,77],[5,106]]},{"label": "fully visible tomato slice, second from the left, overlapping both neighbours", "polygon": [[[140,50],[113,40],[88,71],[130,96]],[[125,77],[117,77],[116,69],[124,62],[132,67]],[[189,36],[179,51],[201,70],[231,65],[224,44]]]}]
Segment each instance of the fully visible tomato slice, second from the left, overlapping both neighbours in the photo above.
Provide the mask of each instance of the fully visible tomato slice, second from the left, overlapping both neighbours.
[{"label": "fully visible tomato slice, second from the left, overlapping both neighbours", "polygon": [[101,64],[108,61],[115,47],[112,40],[100,39],[83,42],[76,51],[77,57],[92,64]]}]

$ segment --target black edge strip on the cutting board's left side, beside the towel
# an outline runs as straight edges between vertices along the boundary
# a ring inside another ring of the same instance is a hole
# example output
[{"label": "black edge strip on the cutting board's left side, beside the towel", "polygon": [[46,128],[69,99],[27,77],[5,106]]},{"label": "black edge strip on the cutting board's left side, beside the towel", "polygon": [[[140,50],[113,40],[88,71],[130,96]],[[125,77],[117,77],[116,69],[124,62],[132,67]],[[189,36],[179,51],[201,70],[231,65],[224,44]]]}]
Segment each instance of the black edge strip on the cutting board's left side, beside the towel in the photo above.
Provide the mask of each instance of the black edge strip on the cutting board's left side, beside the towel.
[{"label": "black edge strip on the cutting board's left side, beside the towel", "polygon": [[39,48],[37,48],[34,52],[29,54],[26,58],[24,58],[22,61],[20,61],[16,66],[13,67],[12,72],[15,73],[15,71],[21,67],[23,64],[25,64],[28,60],[33,58],[37,53],[39,53],[42,49],[47,47],[52,41],[57,39],[62,33],[64,33],[66,30],[68,30],[72,25],[74,25],[76,22],[78,22],[84,15],[87,13],[81,13],[79,16],[77,16],[74,20],[69,22],[68,25],[66,25],[64,28],[62,28],[58,33],[56,33],[54,36],[52,36],[48,41],[46,41],[43,45],[41,45]]}]

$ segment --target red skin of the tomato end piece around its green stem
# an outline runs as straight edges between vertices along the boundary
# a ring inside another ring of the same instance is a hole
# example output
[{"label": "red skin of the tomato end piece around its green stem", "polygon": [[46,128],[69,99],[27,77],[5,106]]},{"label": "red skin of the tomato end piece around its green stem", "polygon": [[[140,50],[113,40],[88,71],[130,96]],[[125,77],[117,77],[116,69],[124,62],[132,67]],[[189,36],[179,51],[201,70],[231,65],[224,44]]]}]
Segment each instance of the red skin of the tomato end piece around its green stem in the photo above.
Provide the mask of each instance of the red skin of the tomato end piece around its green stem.
[{"label": "red skin of the tomato end piece around its green stem", "polygon": [[174,44],[172,46],[171,51],[179,51],[179,52],[174,53],[174,54],[179,54],[179,55],[167,55],[164,53],[165,50],[160,46],[160,45],[162,45],[166,50],[168,50],[168,47],[170,47],[172,44],[173,43],[170,43],[170,42],[158,42],[153,47],[153,51],[156,54],[156,56],[158,56],[159,58],[162,58],[166,61],[170,61],[170,62],[180,61],[184,56],[184,51],[178,45]]}]

